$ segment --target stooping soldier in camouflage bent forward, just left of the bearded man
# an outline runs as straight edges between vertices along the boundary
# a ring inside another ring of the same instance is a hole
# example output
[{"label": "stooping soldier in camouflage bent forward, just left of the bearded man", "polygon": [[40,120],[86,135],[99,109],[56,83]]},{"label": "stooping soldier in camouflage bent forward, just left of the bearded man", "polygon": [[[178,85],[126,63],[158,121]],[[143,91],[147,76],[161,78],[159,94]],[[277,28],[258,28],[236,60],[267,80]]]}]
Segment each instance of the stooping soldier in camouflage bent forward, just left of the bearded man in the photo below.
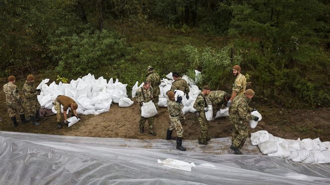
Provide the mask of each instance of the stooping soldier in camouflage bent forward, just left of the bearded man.
[{"label": "stooping soldier in camouflage bent forward, just left of the bearded man", "polygon": [[211,91],[208,95],[209,100],[212,103],[213,108],[213,119],[216,115],[217,111],[220,109],[224,109],[226,107],[227,102],[231,98],[231,95],[226,93],[225,91]]}]

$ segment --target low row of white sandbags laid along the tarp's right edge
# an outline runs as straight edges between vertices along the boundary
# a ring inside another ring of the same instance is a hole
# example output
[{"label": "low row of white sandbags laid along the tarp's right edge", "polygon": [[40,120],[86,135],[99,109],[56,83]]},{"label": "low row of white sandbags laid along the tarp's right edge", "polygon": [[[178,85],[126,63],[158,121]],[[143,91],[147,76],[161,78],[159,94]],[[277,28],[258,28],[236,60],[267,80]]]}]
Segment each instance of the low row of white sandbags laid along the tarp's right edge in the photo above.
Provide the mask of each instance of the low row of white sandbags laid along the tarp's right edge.
[{"label": "low row of white sandbags laid along the tarp's right edge", "polygon": [[266,130],[251,133],[252,145],[258,145],[261,153],[268,156],[291,159],[307,164],[330,163],[330,141],[316,139],[283,139]]}]

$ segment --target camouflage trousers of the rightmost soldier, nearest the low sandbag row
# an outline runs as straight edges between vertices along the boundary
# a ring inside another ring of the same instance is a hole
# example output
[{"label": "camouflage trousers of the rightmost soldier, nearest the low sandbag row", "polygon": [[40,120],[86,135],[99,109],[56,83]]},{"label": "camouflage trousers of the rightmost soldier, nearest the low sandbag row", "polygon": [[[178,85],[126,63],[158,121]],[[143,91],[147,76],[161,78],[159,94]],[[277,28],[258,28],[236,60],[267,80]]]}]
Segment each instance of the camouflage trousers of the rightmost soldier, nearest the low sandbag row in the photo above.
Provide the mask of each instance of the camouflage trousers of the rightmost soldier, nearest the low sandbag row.
[{"label": "camouflage trousers of the rightmost soldier, nearest the low sandbag row", "polygon": [[242,122],[234,123],[232,145],[242,149],[245,141],[248,138],[248,127]]}]

